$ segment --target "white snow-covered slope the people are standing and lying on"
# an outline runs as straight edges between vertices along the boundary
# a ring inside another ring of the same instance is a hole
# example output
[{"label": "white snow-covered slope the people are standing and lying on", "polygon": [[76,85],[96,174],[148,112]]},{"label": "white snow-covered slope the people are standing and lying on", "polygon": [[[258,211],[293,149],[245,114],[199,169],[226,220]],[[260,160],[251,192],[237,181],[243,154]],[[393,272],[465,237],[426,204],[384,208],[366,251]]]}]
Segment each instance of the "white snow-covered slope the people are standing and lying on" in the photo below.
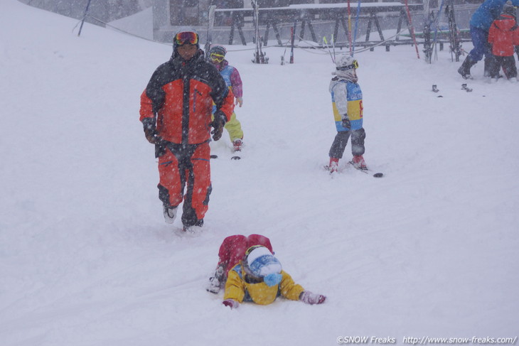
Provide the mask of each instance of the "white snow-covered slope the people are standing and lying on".
[{"label": "white snow-covered slope the people are standing and lying on", "polygon": [[[171,47],[89,24],[78,38],[76,23],[0,4],[1,345],[519,335],[518,84],[488,84],[480,63],[465,92],[446,51],[432,65],[411,46],[355,54],[365,159],[385,176],[348,168],[348,145],[331,178],[330,56],[280,65],[284,49],[267,48],[254,65],[229,47],[246,147],[231,161],[227,134],[212,144],[210,209],[187,237],[164,223],[138,120]],[[326,303],[230,310],[207,293],[220,242],[251,233]]]}]

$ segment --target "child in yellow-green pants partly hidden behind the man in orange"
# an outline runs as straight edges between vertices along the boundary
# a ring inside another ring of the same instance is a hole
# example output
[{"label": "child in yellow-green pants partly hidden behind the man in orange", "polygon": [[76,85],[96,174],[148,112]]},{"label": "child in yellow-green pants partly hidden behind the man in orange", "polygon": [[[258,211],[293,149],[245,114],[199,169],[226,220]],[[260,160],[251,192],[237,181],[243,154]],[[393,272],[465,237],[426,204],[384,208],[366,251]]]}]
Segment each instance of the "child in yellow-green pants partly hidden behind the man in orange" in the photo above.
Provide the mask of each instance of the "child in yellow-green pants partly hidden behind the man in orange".
[{"label": "child in yellow-green pants partly hidden behind the man in orange", "polygon": [[[242,79],[240,78],[240,72],[237,68],[229,65],[229,62],[225,60],[225,54],[227,49],[223,45],[211,45],[209,49],[209,61],[220,71],[225,84],[232,90],[232,94],[236,97],[236,104],[242,107],[243,104],[243,87]],[[213,107],[213,112],[216,110]],[[235,151],[241,151],[243,146],[243,131],[242,124],[236,118],[236,113],[232,113],[230,120],[225,123],[225,129],[229,133],[230,141]]]}]

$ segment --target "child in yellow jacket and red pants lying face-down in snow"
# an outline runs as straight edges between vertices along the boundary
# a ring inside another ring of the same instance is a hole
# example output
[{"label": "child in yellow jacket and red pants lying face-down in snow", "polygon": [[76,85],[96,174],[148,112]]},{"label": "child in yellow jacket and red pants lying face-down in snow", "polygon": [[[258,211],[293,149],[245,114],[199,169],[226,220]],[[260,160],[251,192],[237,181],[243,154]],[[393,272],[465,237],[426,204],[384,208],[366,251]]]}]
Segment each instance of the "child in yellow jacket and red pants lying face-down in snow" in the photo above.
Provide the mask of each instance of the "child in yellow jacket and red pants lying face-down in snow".
[{"label": "child in yellow jacket and red pants lying face-down in snow", "polygon": [[274,257],[270,240],[260,234],[225,238],[218,258],[215,276],[209,279],[207,290],[218,293],[225,284],[223,305],[232,309],[243,301],[268,305],[278,296],[307,304],[321,304],[326,300],[325,296],[305,291],[294,283]]}]

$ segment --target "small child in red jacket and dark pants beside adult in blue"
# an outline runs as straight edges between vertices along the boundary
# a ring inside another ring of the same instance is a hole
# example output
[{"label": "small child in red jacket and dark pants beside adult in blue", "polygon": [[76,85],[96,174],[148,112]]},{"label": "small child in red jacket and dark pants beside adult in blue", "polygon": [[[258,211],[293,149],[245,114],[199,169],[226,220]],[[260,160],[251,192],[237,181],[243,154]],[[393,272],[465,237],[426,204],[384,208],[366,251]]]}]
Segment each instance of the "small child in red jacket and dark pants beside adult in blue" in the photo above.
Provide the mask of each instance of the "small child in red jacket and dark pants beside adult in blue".
[{"label": "small child in red jacket and dark pants beside adult in blue", "polygon": [[508,80],[517,81],[517,67],[513,56],[515,45],[519,45],[519,28],[515,19],[515,7],[511,1],[507,1],[503,7],[501,17],[493,21],[488,31],[488,43],[492,45],[490,77],[498,80],[499,70]]}]

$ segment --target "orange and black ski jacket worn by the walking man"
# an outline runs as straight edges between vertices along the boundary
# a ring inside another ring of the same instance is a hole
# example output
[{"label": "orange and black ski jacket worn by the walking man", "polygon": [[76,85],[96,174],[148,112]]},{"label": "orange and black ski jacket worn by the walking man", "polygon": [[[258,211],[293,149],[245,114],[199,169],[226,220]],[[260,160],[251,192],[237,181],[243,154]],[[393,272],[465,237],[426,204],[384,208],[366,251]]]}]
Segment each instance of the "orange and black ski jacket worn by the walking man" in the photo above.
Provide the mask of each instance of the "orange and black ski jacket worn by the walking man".
[{"label": "orange and black ski jacket worn by the walking man", "polygon": [[141,94],[140,120],[156,118],[157,134],[176,144],[210,139],[213,102],[230,120],[234,96],[220,72],[199,51],[189,61],[178,55],[155,70]]}]

